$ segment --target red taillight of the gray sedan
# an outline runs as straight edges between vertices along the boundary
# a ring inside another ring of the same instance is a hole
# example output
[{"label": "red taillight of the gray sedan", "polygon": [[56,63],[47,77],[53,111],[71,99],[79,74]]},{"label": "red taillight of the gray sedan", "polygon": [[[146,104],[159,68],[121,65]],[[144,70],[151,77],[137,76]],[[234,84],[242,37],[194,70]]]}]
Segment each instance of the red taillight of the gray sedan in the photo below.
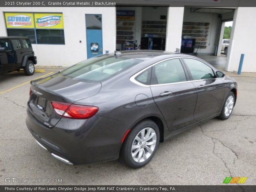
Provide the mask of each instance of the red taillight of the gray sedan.
[{"label": "red taillight of the gray sedan", "polygon": [[76,105],[71,103],[62,103],[51,101],[55,113],[71,119],[88,119],[94,116],[99,108],[87,105]]}]

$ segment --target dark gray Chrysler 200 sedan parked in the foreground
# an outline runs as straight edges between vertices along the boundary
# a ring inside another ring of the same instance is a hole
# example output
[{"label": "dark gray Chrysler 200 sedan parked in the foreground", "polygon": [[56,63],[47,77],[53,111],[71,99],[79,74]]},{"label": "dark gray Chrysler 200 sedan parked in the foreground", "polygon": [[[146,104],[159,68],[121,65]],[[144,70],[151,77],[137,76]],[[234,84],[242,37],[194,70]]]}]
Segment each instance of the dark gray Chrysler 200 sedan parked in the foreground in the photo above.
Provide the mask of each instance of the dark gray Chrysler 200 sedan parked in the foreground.
[{"label": "dark gray Chrysler 200 sedan parked in the foreground", "polygon": [[237,83],[197,57],[124,51],[31,81],[26,124],[68,164],[147,164],[159,142],[214,117],[228,119]]}]

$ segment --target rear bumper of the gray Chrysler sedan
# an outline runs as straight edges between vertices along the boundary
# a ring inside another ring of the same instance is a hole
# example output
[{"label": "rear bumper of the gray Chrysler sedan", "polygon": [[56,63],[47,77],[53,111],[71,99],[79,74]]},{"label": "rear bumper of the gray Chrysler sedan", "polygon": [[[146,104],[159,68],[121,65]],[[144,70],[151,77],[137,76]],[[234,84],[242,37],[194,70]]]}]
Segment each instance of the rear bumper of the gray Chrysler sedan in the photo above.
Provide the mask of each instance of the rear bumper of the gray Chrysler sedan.
[{"label": "rear bumper of the gray Chrysler sedan", "polygon": [[131,124],[94,116],[83,120],[61,118],[53,128],[47,128],[27,112],[26,124],[36,141],[69,164],[117,159],[122,138],[131,127]]}]

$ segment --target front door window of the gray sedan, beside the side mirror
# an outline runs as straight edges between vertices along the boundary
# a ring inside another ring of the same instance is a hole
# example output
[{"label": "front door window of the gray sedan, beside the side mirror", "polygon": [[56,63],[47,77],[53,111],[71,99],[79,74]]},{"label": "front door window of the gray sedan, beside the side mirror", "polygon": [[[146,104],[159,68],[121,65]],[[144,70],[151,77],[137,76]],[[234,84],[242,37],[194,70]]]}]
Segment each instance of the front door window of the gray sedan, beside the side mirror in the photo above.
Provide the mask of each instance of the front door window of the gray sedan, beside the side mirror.
[{"label": "front door window of the gray sedan, beside the side mirror", "polygon": [[190,58],[183,58],[183,60],[188,66],[193,80],[212,79],[215,77],[212,68],[205,63]]}]

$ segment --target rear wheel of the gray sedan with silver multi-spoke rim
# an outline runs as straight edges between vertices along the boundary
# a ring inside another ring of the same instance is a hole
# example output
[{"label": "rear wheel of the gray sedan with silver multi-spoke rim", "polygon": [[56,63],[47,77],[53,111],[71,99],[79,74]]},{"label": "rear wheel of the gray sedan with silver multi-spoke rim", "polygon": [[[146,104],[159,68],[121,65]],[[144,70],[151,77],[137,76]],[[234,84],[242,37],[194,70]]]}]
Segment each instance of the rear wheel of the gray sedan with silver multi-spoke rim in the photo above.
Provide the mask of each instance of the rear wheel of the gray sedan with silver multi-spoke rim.
[{"label": "rear wheel of the gray sedan with silver multi-spoke rim", "polygon": [[149,119],[135,125],[124,140],[120,160],[131,168],[140,168],[153,158],[159,145],[158,126]]}]

